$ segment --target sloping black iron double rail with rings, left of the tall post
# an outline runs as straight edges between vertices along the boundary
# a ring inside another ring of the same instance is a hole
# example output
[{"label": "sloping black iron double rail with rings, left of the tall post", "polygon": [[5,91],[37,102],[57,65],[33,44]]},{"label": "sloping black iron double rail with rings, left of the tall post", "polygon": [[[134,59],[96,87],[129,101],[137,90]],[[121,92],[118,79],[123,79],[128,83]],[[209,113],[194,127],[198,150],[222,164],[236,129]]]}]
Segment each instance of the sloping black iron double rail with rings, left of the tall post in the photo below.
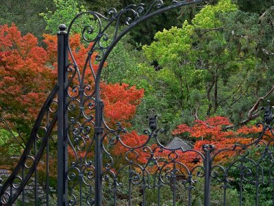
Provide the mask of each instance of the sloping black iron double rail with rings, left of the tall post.
[{"label": "sloping black iron double rail with rings, left of the tall post", "polygon": [[[26,144],[25,150],[23,151],[18,164],[10,174],[10,177],[8,177],[5,183],[3,183],[0,187],[0,205],[12,205],[36,171],[38,163],[42,158],[42,154],[51,136],[51,131],[57,122],[57,114],[55,114],[55,111],[51,109],[52,103],[55,102],[57,92],[58,86],[55,85],[38,114],[34,127],[32,128],[32,132],[29,136],[29,141]],[[49,118],[49,114],[53,114],[53,116]],[[47,119],[47,123],[46,125],[43,125],[43,121],[45,119]],[[36,148],[38,131],[40,128],[44,128],[45,133],[42,137],[40,137],[39,147]],[[33,154],[32,150],[36,151],[36,153]],[[31,160],[29,165],[27,164],[27,159]],[[25,171],[24,176],[21,175],[22,170]],[[8,192],[8,188],[10,187],[16,189],[16,191],[12,194]]]}]

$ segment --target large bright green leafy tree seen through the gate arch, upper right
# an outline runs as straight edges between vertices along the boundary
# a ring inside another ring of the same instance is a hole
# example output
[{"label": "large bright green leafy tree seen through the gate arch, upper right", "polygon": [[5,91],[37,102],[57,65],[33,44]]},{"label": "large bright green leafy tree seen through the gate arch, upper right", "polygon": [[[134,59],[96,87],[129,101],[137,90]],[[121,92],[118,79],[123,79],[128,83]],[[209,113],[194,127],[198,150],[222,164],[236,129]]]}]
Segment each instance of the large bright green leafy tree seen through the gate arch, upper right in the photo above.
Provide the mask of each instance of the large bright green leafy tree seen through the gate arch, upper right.
[{"label": "large bright green leafy tree seen through the gate arch, upper right", "polygon": [[207,115],[229,116],[234,123],[256,118],[258,99],[273,92],[271,34],[266,15],[262,20],[228,0],[207,5],[191,24],[158,32],[143,49],[157,65],[151,88],[162,89],[161,102],[160,93],[167,99],[163,116],[170,118],[164,122],[172,125],[176,116],[186,122]]}]

